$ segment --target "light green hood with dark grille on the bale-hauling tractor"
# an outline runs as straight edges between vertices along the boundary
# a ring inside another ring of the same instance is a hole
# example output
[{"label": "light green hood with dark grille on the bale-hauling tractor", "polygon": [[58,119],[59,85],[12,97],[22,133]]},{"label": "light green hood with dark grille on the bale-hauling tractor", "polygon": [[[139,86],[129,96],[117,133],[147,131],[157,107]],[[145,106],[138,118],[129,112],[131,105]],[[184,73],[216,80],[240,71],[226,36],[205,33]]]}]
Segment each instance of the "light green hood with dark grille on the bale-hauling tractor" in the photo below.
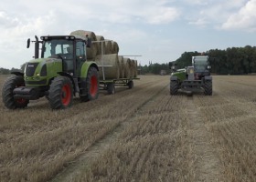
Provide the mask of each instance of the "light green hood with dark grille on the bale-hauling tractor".
[{"label": "light green hood with dark grille on the bale-hauling tractor", "polygon": [[51,78],[62,71],[62,60],[58,58],[38,58],[27,62],[25,67],[26,86],[47,86]]}]

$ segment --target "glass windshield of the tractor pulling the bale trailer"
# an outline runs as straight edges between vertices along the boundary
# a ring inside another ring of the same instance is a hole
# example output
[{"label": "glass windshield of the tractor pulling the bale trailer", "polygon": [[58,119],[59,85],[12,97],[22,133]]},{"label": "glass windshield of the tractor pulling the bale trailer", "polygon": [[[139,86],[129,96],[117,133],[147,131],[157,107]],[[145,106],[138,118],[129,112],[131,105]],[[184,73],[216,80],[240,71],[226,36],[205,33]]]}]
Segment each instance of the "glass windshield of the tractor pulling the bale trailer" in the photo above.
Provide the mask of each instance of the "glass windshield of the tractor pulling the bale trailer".
[{"label": "glass windshield of the tractor pulling the bale trailer", "polygon": [[44,42],[42,48],[42,57],[45,58],[56,55],[69,56],[69,59],[73,58],[73,41],[71,40],[48,40]]}]

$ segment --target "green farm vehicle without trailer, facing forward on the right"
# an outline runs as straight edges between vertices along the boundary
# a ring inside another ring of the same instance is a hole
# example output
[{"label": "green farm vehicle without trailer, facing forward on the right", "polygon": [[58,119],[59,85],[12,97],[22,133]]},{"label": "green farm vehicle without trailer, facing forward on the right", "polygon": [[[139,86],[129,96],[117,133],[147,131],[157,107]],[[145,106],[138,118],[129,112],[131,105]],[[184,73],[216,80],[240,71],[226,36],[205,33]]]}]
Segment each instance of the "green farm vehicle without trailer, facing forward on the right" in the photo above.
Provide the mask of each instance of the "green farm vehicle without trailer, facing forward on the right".
[{"label": "green farm vehicle without trailer, facing forward on the right", "polygon": [[181,89],[187,94],[204,90],[206,96],[212,95],[212,77],[208,56],[192,56],[192,66],[176,70],[176,64],[169,63],[173,73],[170,78],[170,95],[176,95]]}]

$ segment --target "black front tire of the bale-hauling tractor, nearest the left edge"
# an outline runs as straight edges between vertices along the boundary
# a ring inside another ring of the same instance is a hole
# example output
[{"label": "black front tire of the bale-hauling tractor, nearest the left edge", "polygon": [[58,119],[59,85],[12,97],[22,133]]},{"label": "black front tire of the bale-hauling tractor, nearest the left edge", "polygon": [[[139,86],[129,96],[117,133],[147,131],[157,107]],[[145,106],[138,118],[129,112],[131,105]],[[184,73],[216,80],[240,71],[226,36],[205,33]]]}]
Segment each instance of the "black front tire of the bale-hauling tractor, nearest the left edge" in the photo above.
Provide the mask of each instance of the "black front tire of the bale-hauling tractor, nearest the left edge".
[{"label": "black front tire of the bale-hauling tractor, nearest the left edge", "polygon": [[19,86],[25,86],[23,76],[10,76],[5,81],[2,88],[2,99],[5,106],[9,109],[24,108],[29,103],[29,100],[27,99],[16,99],[14,97],[13,91]]}]

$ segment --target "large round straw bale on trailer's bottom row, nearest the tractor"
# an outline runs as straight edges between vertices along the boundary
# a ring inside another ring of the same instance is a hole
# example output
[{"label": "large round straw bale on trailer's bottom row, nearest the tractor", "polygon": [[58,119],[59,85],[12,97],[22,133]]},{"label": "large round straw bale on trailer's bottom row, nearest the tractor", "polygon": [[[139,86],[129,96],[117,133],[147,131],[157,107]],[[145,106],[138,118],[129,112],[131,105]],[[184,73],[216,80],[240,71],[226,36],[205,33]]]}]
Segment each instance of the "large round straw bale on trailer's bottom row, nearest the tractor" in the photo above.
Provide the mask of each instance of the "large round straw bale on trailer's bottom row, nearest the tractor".
[{"label": "large round straw bale on trailer's bottom row, nearest the tractor", "polygon": [[99,66],[100,79],[119,79],[120,78],[120,64],[117,54],[98,55],[95,57],[95,62]]}]

